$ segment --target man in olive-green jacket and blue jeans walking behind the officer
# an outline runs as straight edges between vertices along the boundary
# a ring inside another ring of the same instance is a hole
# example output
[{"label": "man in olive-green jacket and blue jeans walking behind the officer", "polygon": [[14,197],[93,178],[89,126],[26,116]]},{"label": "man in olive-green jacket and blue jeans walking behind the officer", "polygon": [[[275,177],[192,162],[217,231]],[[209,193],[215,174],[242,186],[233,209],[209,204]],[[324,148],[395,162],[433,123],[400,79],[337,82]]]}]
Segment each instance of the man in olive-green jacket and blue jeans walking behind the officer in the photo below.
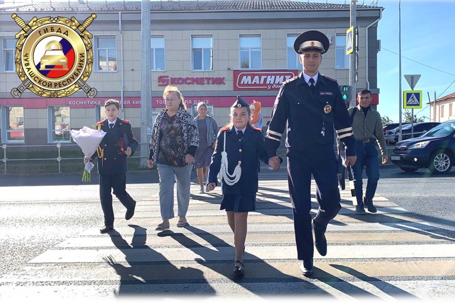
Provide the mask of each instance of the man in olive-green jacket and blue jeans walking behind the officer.
[{"label": "man in olive-green jacket and blue jeans walking behind the officer", "polygon": [[[368,212],[376,213],[376,207],[373,205],[373,197],[375,196],[379,180],[379,162],[376,144],[379,144],[379,149],[381,150],[382,164],[386,164],[388,160],[386,142],[382,131],[381,115],[370,106],[371,91],[362,89],[357,94],[357,100],[358,106],[348,109],[355,138],[355,154],[357,155],[357,161],[352,166],[355,179],[355,196],[357,199],[355,212],[357,214],[365,214],[365,208],[363,208],[365,205],[367,206]],[[341,150],[344,151],[344,148]],[[366,168],[368,181],[365,198],[362,199],[363,167]]]}]

